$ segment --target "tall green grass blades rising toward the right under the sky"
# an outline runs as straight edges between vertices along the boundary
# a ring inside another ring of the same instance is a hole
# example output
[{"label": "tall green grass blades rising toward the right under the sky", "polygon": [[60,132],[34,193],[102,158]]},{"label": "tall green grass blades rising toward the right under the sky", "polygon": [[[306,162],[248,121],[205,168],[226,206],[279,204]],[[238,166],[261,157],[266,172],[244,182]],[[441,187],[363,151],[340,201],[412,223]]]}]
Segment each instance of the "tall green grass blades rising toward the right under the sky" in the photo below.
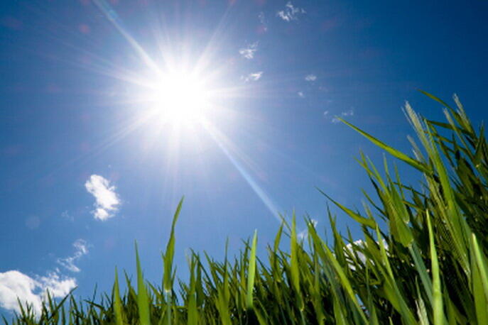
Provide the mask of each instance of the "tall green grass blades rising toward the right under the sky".
[{"label": "tall green grass blades rising toward the right under the sky", "polygon": [[[310,220],[300,240],[293,217],[269,244],[267,260],[256,256],[254,233],[241,253],[226,254],[223,262],[191,253],[190,279],[175,281],[182,201],[163,253],[161,286],[143,279],[136,248],[137,287],[125,275],[121,293],[115,272],[112,292],[100,299],[48,298],[40,315],[22,305],[11,324],[488,324],[484,128],[475,131],[457,97],[452,108],[425,95],[444,106],[446,122],[424,119],[406,105],[418,138],[411,139],[413,156],[344,121],[422,175],[411,186],[386,159],[379,172],[361,153],[375,196],[364,192],[362,212],[331,199],[362,227],[361,240],[340,234],[330,213],[330,241]],[[286,250],[280,248],[284,236]]]}]

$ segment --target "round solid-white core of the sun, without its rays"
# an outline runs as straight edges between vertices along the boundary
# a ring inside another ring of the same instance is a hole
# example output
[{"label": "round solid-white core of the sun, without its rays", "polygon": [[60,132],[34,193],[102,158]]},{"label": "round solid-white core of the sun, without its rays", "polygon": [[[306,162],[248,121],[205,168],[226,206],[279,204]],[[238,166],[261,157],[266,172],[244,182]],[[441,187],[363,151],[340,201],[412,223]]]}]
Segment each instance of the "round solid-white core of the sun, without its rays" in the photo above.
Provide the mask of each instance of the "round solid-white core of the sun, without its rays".
[{"label": "round solid-white core of the sun, without its rays", "polygon": [[201,122],[210,106],[203,80],[187,72],[161,74],[148,88],[146,100],[164,123]]}]

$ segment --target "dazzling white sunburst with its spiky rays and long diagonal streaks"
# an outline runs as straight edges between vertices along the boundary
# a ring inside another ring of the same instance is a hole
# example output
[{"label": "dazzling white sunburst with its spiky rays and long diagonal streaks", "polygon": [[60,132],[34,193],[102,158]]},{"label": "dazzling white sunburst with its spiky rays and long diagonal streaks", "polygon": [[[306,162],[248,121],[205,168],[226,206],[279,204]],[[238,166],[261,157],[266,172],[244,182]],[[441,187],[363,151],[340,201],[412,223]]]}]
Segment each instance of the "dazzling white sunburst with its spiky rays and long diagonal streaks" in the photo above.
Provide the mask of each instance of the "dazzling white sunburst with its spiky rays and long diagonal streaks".
[{"label": "dazzling white sunburst with its spiky rays and long diagonal streaks", "polygon": [[[188,137],[188,133],[190,133],[197,137],[195,132],[188,132],[196,129],[206,131],[237,169],[239,175],[264,203],[264,206],[269,209],[271,215],[281,223],[283,221],[283,217],[279,214],[281,210],[251,175],[251,171],[256,170],[257,167],[254,166],[249,157],[238,150],[237,146],[224,133],[219,131],[213,121],[211,123],[209,120],[210,116],[215,118],[219,113],[228,111],[224,105],[217,104],[217,102],[249,96],[246,94],[246,90],[249,91],[249,85],[236,86],[231,84],[222,87],[222,84],[215,84],[215,80],[221,77],[226,67],[225,63],[212,60],[213,55],[215,55],[215,48],[217,48],[212,43],[215,42],[216,38],[219,38],[219,30],[223,21],[219,22],[219,28],[197,57],[191,57],[189,51],[180,53],[178,56],[175,55],[170,50],[169,39],[166,46],[158,43],[161,50],[161,64],[158,65],[124,28],[123,22],[107,1],[94,0],[94,3],[129,42],[131,47],[136,50],[145,65],[146,70],[141,71],[139,75],[131,74],[121,76],[119,79],[129,81],[134,86],[134,89],[130,91],[132,95],[127,102],[137,106],[142,115],[141,119],[148,121],[156,128],[166,130],[167,148],[170,152],[170,155],[166,157],[166,167],[172,170],[170,174],[173,177],[178,174],[179,152],[183,143],[183,136]],[[185,44],[189,45],[188,43]],[[213,66],[214,62],[219,62],[219,68]],[[259,89],[254,90],[259,91]]]}]

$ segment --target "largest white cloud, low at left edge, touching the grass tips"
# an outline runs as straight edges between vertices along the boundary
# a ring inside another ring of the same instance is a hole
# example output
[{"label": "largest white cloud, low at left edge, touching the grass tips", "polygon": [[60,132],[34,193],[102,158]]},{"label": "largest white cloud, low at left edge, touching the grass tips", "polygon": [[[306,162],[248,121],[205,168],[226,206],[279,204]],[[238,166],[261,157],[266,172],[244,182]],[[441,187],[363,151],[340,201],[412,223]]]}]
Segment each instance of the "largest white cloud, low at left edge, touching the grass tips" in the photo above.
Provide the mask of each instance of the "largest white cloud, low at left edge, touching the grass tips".
[{"label": "largest white cloud, low at left edge, touching the grass tips", "polygon": [[65,297],[76,287],[72,277],[60,277],[51,272],[44,277],[29,277],[17,270],[0,272],[0,307],[19,312],[18,300],[29,304],[36,314],[40,314],[43,300],[47,297],[46,290],[53,298]]}]

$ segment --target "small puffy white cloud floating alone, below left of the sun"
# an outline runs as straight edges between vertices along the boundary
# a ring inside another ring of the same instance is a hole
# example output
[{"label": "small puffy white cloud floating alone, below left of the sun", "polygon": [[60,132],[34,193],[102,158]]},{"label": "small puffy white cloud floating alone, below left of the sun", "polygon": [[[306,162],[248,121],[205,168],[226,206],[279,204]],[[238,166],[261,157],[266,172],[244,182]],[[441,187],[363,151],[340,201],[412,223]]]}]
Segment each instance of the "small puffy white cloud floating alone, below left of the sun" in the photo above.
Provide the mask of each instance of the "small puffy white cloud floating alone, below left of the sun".
[{"label": "small puffy white cloud floating alone, below left of the sun", "polygon": [[92,175],[85,182],[85,188],[96,199],[95,209],[92,211],[94,218],[102,221],[112,218],[119,209],[120,199],[109,180],[100,175]]}]

